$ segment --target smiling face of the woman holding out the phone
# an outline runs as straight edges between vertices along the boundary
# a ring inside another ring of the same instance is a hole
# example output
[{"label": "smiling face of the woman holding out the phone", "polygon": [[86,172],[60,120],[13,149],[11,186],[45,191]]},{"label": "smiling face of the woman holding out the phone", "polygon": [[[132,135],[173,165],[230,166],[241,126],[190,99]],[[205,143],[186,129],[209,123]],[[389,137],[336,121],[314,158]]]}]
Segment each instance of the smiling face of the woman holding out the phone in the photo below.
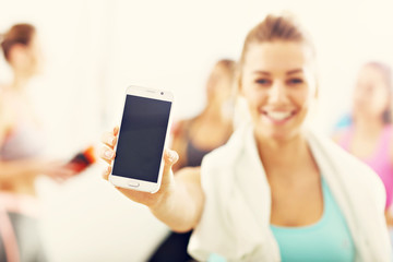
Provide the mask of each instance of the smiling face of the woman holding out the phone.
[{"label": "smiling face of the woman holding out the phone", "polygon": [[315,96],[311,52],[293,41],[251,44],[240,91],[258,135],[288,140],[300,132]]}]

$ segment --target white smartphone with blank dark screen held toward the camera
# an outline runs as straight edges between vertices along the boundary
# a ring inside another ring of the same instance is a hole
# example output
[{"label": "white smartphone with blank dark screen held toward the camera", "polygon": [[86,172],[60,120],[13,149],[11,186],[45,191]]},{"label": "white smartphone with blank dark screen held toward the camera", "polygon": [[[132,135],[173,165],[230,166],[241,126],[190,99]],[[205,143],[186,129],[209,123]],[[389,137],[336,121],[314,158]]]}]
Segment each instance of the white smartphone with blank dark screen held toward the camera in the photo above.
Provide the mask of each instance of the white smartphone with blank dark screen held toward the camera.
[{"label": "white smartphone with blank dark screen held toward the camera", "polygon": [[116,157],[109,181],[121,188],[159,190],[164,148],[170,127],[174,95],[140,86],[127,88]]}]

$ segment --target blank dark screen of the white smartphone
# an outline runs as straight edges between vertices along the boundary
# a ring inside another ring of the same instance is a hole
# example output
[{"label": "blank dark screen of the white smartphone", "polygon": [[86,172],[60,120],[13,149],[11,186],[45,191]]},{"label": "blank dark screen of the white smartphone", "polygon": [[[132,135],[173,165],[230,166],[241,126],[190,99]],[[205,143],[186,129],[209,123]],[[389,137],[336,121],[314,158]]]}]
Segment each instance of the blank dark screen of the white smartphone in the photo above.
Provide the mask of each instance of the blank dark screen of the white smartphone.
[{"label": "blank dark screen of the white smartphone", "polygon": [[127,95],[112,174],[157,182],[171,102]]}]

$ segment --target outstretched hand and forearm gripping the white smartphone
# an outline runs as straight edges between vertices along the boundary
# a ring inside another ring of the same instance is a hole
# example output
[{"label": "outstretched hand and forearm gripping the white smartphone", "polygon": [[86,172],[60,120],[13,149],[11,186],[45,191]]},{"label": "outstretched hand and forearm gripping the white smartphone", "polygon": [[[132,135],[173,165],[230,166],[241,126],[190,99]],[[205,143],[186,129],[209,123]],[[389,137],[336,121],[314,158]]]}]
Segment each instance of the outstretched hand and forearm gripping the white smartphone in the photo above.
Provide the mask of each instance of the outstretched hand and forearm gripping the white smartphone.
[{"label": "outstretched hand and forearm gripping the white smartphone", "polygon": [[[119,129],[104,136],[105,147],[102,158],[109,164],[104,172],[108,180],[111,171],[111,162],[115,158],[114,146],[117,141]],[[162,184],[156,193],[147,193],[135,190],[117,188],[130,200],[144,204],[163,223],[174,231],[188,231],[196,226],[202,215],[204,194],[201,187],[200,168],[184,168],[174,176],[172,165],[178,160],[174,151],[166,150],[164,154],[164,171]]]}]

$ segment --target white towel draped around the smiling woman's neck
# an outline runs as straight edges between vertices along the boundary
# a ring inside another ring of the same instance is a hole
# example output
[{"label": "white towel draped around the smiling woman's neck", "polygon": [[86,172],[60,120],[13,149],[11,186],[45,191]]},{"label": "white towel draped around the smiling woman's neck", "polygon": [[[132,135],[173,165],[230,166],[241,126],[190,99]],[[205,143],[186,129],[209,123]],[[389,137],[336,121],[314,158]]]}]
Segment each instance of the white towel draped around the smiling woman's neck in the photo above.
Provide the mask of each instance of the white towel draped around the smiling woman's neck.
[{"label": "white towel draped around the smiling woman's neck", "polygon": [[[356,247],[356,261],[390,261],[384,221],[385,191],[365,164],[314,131],[307,141]],[[212,253],[228,261],[281,261],[270,229],[271,192],[251,124],[203,159],[204,211],[188,247],[199,261]]]}]

